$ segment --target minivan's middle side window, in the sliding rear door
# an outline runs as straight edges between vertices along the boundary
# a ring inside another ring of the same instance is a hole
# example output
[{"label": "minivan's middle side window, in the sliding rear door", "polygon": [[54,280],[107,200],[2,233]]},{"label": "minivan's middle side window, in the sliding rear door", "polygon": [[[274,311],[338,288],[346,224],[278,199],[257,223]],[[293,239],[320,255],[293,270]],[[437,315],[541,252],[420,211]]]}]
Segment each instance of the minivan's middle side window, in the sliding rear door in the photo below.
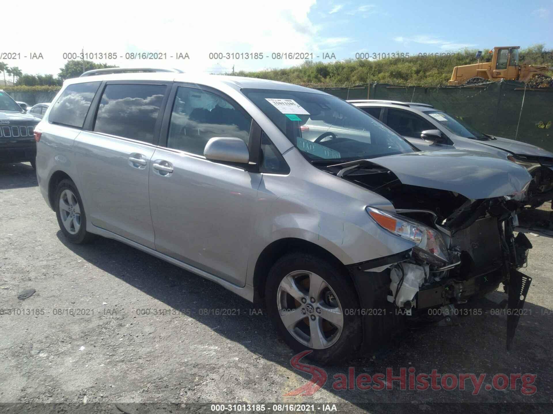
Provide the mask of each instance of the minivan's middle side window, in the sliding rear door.
[{"label": "minivan's middle side window, in the sliding rear door", "polygon": [[108,84],[102,94],[94,131],[153,142],[164,85]]}]

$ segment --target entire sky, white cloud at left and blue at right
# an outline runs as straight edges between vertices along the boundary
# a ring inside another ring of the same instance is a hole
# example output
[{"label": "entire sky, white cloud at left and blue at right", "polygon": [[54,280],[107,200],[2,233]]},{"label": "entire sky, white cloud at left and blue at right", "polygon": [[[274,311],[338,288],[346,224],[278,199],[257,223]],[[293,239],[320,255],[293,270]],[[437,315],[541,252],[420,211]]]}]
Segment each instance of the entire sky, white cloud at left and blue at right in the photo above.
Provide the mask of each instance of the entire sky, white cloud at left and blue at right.
[{"label": "entire sky, white cloud at left and blue at right", "polygon": [[[553,0],[465,1],[455,8],[451,2],[379,0],[156,0],[156,7],[152,3],[147,11],[113,0],[93,4],[51,0],[47,8],[43,3],[28,0],[12,6],[27,21],[48,26],[41,32],[42,39],[32,30],[22,31],[18,19],[2,22],[0,52],[20,57],[1,60],[24,73],[57,75],[67,60],[64,54],[80,53],[83,47],[93,54],[116,52],[117,59],[89,59],[98,63],[204,73],[231,71],[233,66],[236,71],[263,70],[302,62],[273,59],[272,52],[307,52],[314,60],[328,52],[343,60],[354,58],[357,52],[416,55],[536,43],[553,49]],[[44,59],[25,57],[32,52],[41,53]],[[129,60],[128,52],[159,52],[166,57]],[[189,54],[190,59],[176,60],[178,52]],[[261,52],[264,57],[220,59],[213,52]]]}]

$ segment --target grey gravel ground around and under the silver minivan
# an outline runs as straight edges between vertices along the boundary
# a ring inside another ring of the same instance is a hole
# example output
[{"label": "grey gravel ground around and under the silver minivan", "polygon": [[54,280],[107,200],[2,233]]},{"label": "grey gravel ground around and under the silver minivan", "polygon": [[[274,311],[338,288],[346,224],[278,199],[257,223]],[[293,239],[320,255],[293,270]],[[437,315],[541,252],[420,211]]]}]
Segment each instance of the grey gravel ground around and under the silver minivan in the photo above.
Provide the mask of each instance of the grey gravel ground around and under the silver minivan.
[{"label": "grey gravel ground around and under the silver minivan", "polygon": [[[116,241],[70,245],[27,163],[0,165],[0,206],[0,308],[19,309],[0,316],[0,402],[36,404],[0,411],[171,412],[137,404],[150,402],[304,403],[315,411],[333,403],[340,412],[432,412],[436,403],[497,403],[467,408],[486,412],[521,411],[521,403],[525,411],[553,408],[553,238],[543,234],[528,236],[534,248],[523,272],[533,278],[525,307],[531,315],[521,317],[512,351],[505,350],[507,317],[492,315],[506,298],[500,290],[471,304],[481,315],[425,327],[386,352],[324,367],[322,389],[286,396],[312,375],[291,366],[294,353],[263,309]],[[535,214],[545,220],[550,211],[548,204]],[[18,299],[31,288],[30,298]],[[398,383],[381,392],[333,389],[333,376],[347,376],[348,367],[355,376],[388,367],[394,375],[414,367],[415,375],[436,369],[487,376],[478,395],[469,381],[464,391],[400,390]],[[515,390],[487,390],[497,373],[536,374],[536,392],[524,395],[520,380]]]}]

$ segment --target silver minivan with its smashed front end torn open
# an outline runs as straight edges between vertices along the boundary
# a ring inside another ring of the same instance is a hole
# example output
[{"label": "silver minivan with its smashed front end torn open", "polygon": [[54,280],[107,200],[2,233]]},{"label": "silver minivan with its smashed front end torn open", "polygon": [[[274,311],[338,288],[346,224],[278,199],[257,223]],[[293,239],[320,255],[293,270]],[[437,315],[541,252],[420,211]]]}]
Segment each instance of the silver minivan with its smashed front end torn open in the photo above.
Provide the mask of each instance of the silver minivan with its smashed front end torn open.
[{"label": "silver minivan with its smashed front end torn open", "polygon": [[[305,139],[306,119],[328,127]],[[386,346],[500,283],[511,309],[524,305],[531,245],[513,228],[526,169],[418,151],[326,93],[96,70],[64,82],[35,140],[40,191],[69,241],[113,238],[264,302],[312,359]]]}]

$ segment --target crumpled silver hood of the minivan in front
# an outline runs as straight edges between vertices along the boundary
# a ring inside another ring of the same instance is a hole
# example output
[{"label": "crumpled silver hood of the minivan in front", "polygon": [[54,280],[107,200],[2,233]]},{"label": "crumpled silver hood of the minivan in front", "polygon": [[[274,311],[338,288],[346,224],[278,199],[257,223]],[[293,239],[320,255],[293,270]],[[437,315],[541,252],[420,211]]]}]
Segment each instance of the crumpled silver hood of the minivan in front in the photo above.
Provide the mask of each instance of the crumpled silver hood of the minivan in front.
[{"label": "crumpled silver hood of the minivan in front", "polygon": [[472,200],[521,197],[532,178],[514,162],[471,151],[411,152],[367,162],[389,169],[403,184],[452,191]]}]

